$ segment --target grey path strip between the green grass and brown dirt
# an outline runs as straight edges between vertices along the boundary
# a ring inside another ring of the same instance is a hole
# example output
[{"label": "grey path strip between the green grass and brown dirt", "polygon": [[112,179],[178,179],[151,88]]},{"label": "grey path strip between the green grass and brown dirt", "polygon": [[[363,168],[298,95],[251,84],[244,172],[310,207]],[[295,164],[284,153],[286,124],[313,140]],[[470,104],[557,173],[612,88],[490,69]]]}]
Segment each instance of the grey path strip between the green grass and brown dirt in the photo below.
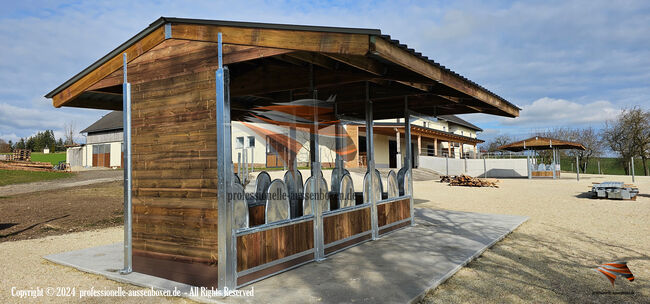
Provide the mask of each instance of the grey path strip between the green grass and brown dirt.
[{"label": "grey path strip between the green grass and brown dirt", "polygon": [[38,191],[63,189],[70,187],[85,186],[97,183],[106,183],[124,178],[122,170],[89,170],[76,173],[75,176],[51,181],[34,182],[26,184],[15,184],[0,187],[0,196],[11,196]]}]

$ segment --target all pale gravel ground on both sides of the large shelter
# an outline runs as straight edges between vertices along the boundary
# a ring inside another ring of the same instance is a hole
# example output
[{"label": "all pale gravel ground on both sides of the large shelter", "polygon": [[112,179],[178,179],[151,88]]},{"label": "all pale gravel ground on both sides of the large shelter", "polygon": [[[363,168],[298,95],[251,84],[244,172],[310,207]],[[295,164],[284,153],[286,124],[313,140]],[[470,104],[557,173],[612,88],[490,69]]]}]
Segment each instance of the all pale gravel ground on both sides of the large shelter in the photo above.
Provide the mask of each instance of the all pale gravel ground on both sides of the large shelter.
[{"label": "all pale gravel ground on both sides of the large shelter", "polygon": [[[650,178],[639,177],[637,201],[583,197],[593,181],[629,177],[581,176],[581,181],[509,179],[501,188],[450,187],[415,182],[417,207],[529,216],[530,220],[479,259],[430,292],[424,303],[648,303],[650,298]],[[119,242],[122,229],[108,228],[41,239],[0,243],[0,302],[13,303],[11,288],[76,287],[138,289],[45,261],[42,256]],[[627,260],[636,277],[612,288],[592,271],[604,262]],[[625,294],[603,294],[625,292]],[[632,294],[630,294],[632,293]],[[45,297],[31,302],[71,302]],[[87,302],[74,299],[73,302]],[[280,300],[280,299],[278,299]],[[92,302],[181,302],[171,298],[94,298]]]}]

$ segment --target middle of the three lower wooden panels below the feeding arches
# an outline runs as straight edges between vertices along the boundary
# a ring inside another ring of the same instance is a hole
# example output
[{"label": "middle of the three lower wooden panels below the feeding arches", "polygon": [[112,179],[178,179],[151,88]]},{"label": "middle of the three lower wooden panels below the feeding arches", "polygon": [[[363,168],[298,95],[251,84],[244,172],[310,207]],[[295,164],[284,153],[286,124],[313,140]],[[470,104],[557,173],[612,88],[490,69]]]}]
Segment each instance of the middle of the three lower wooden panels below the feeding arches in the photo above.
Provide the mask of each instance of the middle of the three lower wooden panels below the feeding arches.
[{"label": "middle of the three lower wooden panels below the feeding arches", "polygon": [[323,229],[325,244],[369,231],[371,229],[370,208],[325,217]]}]

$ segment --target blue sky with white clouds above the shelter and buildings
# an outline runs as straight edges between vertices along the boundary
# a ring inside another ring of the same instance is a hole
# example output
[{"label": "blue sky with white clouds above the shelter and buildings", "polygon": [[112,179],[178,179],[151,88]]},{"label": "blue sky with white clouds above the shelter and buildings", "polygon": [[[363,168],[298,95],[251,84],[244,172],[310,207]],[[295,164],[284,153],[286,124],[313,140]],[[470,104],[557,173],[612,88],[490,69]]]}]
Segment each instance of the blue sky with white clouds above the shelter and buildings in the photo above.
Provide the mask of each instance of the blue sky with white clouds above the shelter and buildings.
[{"label": "blue sky with white clouds above the shelter and buildings", "polygon": [[[463,116],[489,139],[600,128],[650,108],[650,1],[5,1],[0,138],[17,140],[107,111],[43,97],[160,16],[379,28],[520,106],[516,119]],[[79,138],[81,139],[81,137]]]}]

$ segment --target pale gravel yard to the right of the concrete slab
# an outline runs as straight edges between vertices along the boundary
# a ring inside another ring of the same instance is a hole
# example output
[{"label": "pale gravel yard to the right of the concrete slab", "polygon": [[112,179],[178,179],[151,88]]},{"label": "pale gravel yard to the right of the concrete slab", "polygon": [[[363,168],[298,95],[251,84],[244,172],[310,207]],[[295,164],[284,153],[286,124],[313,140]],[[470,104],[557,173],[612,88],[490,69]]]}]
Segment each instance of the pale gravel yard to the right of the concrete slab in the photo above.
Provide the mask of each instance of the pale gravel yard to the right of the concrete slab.
[{"label": "pale gravel yard to the right of the concrete slab", "polygon": [[[423,302],[650,303],[650,178],[637,177],[636,201],[614,201],[583,193],[592,182],[630,177],[580,177],[509,179],[501,188],[416,184],[416,197],[430,200],[418,207],[530,217]],[[619,278],[612,288],[592,271],[616,260],[628,262],[634,282]]]}]

